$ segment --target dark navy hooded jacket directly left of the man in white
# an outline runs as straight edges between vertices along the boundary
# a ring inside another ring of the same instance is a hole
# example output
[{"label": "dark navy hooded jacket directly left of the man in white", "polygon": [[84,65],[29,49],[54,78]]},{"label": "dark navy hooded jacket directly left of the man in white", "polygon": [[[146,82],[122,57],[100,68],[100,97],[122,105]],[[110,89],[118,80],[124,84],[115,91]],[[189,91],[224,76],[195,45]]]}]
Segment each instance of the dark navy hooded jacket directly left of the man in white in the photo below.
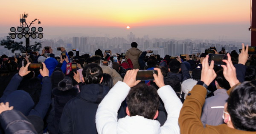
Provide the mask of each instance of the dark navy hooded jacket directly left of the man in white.
[{"label": "dark navy hooded jacket directly left of the man in white", "polygon": [[95,115],[109,87],[101,84],[82,86],[81,92],[64,106],[59,124],[61,134],[97,134]]}]

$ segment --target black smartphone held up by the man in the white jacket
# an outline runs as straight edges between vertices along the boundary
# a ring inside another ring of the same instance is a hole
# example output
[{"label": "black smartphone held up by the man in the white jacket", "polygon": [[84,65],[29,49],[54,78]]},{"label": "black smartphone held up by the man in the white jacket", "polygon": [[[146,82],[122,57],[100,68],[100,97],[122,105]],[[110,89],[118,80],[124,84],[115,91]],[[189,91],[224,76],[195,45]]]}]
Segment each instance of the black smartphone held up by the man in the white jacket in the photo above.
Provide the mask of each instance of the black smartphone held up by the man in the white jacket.
[{"label": "black smartphone held up by the man in the white jacket", "polygon": [[136,80],[154,80],[153,74],[157,74],[156,70],[139,70]]}]

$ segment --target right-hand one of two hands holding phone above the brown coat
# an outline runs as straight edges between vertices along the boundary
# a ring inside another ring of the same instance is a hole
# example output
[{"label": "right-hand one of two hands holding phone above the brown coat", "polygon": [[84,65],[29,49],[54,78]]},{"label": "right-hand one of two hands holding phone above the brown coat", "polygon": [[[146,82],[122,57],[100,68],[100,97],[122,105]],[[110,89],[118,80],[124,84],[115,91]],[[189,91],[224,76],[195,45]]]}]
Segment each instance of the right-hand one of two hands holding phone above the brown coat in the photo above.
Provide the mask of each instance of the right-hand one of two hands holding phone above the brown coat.
[{"label": "right-hand one of two hands holding phone above the brown coat", "polygon": [[[248,47],[247,47],[248,48]],[[221,65],[223,68],[223,75],[225,79],[230,83],[230,87],[235,86],[237,83],[239,83],[239,80],[237,80],[236,77],[236,68],[234,67],[230,54],[227,54],[227,60],[223,60],[227,65]]]}]

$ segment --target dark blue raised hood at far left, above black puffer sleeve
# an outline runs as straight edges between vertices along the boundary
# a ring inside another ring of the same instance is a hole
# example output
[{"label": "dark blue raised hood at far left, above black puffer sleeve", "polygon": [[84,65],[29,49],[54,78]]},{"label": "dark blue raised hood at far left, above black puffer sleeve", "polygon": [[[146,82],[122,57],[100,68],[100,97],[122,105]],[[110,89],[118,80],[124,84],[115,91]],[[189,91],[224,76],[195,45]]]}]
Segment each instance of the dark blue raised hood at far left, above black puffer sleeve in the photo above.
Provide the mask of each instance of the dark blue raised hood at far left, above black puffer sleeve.
[{"label": "dark blue raised hood at far left, above black puffer sleeve", "polygon": [[10,106],[13,106],[15,110],[22,112],[25,116],[29,115],[35,105],[29,93],[24,90],[13,91],[6,97],[6,102],[9,102]]}]

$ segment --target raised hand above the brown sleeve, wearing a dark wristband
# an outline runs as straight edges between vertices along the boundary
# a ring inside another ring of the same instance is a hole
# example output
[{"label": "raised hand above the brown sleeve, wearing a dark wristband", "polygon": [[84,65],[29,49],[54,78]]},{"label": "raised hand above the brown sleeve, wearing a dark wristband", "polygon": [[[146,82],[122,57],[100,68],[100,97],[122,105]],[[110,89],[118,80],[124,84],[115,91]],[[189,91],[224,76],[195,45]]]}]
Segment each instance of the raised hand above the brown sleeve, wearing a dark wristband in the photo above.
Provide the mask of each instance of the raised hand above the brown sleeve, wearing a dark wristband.
[{"label": "raised hand above the brown sleeve, wearing a dark wristband", "polygon": [[201,81],[203,81],[207,86],[215,79],[217,74],[213,70],[214,61],[211,61],[209,66],[208,63],[209,55],[207,55],[204,60],[202,61],[202,72],[201,72]]}]

